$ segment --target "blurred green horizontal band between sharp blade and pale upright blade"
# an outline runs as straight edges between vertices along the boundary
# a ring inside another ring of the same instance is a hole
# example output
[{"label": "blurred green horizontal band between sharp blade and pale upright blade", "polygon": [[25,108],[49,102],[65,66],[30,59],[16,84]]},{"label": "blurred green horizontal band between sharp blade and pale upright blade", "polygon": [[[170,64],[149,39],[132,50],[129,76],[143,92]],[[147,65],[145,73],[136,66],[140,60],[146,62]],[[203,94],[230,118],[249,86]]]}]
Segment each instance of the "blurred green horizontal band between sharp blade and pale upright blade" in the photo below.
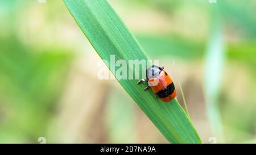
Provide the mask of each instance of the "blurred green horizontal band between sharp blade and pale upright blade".
[{"label": "blurred green horizontal band between sharp blade and pale upright blade", "polygon": [[195,60],[203,56],[203,47],[199,41],[184,39],[173,35],[136,35],[139,43],[151,57],[174,56],[185,60]]}]

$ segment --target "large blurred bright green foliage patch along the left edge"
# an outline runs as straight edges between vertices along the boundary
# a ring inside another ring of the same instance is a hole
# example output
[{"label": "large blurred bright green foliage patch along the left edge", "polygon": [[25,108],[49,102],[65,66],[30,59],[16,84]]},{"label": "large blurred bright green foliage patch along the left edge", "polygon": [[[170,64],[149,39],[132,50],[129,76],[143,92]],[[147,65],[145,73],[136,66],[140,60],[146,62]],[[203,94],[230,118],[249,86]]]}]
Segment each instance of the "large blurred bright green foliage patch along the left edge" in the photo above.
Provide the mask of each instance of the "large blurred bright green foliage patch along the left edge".
[{"label": "large blurred bright green foliage patch along the left edge", "polygon": [[15,37],[0,47],[0,143],[35,141],[46,132],[71,55],[30,51]]}]

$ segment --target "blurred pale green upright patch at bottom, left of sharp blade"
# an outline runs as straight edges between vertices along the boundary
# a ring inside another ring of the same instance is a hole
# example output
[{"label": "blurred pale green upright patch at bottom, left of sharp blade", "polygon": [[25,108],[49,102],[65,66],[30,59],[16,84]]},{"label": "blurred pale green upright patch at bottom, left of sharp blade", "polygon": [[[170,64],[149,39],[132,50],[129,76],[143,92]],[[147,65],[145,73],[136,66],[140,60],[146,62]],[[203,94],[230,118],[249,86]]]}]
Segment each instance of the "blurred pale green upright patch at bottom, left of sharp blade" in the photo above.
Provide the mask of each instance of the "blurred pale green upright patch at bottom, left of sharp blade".
[{"label": "blurred pale green upright patch at bottom, left of sharp blade", "polygon": [[[136,111],[134,110],[133,100],[127,98],[125,93],[113,89],[110,91],[107,103],[105,122],[108,128],[108,139],[110,143],[133,143],[135,141],[135,119]],[[126,102],[120,102],[127,98]],[[128,103],[131,102],[131,103]]]}]

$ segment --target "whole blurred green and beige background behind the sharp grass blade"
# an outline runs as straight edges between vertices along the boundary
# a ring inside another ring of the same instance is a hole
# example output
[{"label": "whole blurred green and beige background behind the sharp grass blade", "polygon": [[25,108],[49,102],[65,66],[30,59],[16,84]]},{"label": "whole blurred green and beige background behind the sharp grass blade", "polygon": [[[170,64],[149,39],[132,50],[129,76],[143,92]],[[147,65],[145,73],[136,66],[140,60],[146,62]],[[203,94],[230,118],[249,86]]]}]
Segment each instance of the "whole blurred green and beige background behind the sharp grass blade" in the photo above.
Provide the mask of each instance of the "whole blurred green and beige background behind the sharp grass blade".
[{"label": "whole blurred green and beige background behind the sharp grass blade", "polygon": [[[176,86],[179,75],[204,143],[256,143],[255,0],[110,3]],[[0,143],[168,143],[97,78],[100,57],[62,1],[2,0],[0,21]]]}]

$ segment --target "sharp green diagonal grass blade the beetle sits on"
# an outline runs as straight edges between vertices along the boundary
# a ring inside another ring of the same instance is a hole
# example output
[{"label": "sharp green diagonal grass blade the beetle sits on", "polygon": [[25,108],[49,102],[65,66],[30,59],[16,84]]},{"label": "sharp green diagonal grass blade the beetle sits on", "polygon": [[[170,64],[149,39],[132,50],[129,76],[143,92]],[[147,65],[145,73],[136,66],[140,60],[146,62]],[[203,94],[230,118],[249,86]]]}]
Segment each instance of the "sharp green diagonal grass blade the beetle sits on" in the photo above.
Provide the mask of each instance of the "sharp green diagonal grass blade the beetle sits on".
[{"label": "sharp green diagonal grass blade the beetle sits on", "polygon": [[[107,65],[110,64],[110,55],[115,55],[115,60],[126,62],[148,60],[141,45],[108,1],[63,1],[98,55],[108,62]],[[136,72],[141,71],[135,69],[134,74]],[[151,90],[143,91],[143,86],[137,85],[137,79],[118,81],[171,143],[201,143],[199,135],[176,99],[163,103]]]}]

